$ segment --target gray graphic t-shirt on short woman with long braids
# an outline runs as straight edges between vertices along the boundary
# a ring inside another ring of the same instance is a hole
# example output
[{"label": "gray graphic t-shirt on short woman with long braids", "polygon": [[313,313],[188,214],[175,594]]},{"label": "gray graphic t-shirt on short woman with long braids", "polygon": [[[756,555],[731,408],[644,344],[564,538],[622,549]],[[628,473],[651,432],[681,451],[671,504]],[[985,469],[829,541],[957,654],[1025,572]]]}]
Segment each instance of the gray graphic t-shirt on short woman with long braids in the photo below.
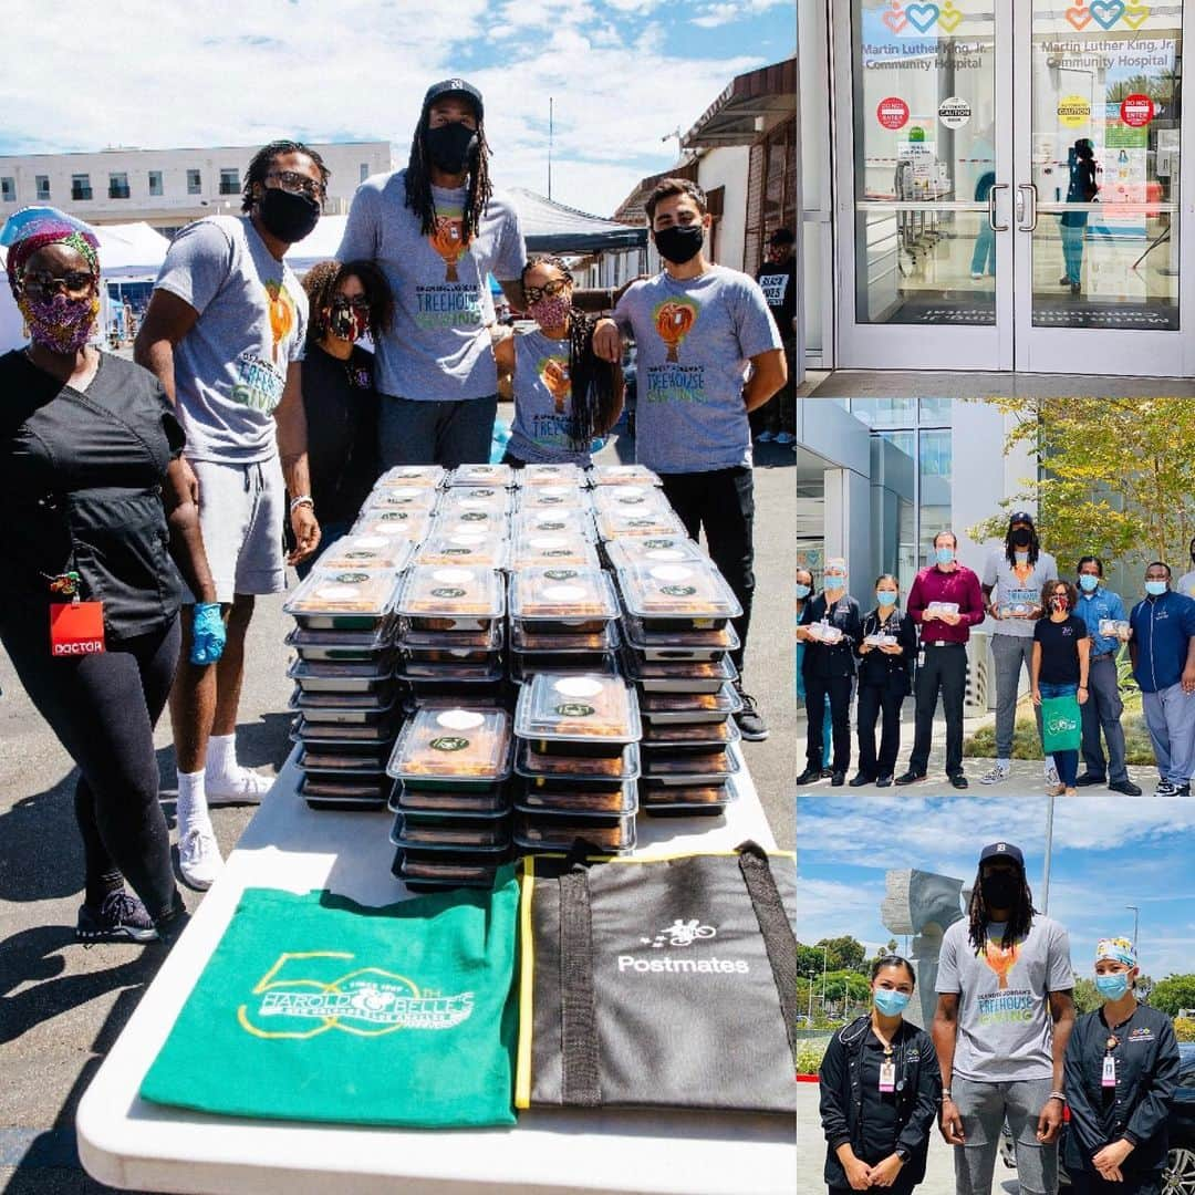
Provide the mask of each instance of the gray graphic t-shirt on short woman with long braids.
[{"label": "gray graphic t-shirt on short woman with long braids", "polygon": [[571,461],[589,466],[589,445],[569,435],[572,387],[569,339],[553,341],[538,327],[516,332],[515,422],[507,447],[522,461]]}]

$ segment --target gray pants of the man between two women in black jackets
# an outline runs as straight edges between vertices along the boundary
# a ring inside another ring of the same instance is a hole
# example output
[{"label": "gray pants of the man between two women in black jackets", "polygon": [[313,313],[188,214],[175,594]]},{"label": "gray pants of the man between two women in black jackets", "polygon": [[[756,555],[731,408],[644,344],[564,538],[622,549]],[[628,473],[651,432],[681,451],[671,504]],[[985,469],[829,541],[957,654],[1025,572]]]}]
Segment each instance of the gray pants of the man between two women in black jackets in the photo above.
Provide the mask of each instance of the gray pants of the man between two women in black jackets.
[{"label": "gray pants of the man between two women in black jackets", "polygon": [[1058,1142],[1042,1145],[1037,1140],[1037,1117],[1053,1090],[1049,1079],[973,1083],[956,1074],[950,1090],[967,1139],[955,1148],[956,1195],[992,1195],[1005,1121],[1017,1156],[1021,1195],[1058,1195]]}]

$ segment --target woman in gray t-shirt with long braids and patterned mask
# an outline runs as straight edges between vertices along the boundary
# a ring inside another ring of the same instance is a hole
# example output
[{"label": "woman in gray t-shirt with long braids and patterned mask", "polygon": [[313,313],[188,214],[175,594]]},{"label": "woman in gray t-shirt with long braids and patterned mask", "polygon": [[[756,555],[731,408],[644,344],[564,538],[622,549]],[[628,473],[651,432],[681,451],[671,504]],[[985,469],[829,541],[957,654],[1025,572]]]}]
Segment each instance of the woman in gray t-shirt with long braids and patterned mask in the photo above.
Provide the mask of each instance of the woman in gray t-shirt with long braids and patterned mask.
[{"label": "woman in gray t-shirt with long braids and patterned mask", "polygon": [[588,468],[589,445],[623,410],[623,372],[594,354],[594,324],[572,306],[572,275],[558,257],[522,271],[537,326],[507,332],[494,347],[498,369],[514,375],[515,422],[503,461],[570,462]]}]

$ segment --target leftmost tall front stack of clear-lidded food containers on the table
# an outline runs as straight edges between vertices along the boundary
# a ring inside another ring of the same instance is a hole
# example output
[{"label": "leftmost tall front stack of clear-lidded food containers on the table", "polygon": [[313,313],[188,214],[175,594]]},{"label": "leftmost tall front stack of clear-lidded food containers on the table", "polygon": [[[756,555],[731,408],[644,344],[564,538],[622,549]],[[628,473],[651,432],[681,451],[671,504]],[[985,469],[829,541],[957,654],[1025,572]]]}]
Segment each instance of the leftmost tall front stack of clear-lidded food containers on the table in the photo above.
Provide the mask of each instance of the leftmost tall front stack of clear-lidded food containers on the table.
[{"label": "leftmost tall front stack of clear-lidded food containers on the table", "polygon": [[302,744],[300,791],[315,808],[381,808],[402,722],[394,599],[412,545],[354,532],[329,547],[283,606],[296,627],[290,710]]}]

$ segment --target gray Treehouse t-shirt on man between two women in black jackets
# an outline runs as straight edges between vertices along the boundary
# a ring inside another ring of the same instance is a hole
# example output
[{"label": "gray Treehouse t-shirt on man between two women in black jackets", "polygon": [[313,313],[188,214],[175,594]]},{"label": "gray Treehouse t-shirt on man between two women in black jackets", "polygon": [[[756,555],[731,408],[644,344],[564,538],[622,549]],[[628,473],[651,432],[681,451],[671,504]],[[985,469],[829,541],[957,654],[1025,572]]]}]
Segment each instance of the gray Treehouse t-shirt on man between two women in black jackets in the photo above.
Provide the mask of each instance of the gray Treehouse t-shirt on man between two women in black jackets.
[{"label": "gray Treehouse t-shirt on man between two women in black jackets", "polygon": [[1004,926],[989,921],[987,944],[970,944],[967,918],[942,937],[938,994],[958,995],[954,1073],[974,1083],[1049,1079],[1054,1073],[1050,992],[1074,987],[1066,930],[1035,914],[1029,933],[1004,944]]}]

